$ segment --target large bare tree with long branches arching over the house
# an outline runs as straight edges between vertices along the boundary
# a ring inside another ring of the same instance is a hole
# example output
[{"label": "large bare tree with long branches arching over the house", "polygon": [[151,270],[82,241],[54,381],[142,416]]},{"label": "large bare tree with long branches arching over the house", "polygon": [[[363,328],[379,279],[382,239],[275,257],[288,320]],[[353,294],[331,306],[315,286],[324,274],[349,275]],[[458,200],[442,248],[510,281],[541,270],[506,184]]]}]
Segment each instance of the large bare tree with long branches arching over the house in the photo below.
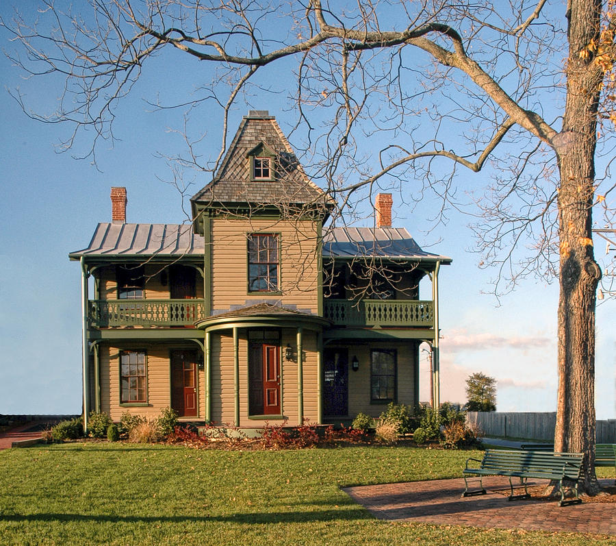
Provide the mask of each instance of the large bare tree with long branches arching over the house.
[{"label": "large bare tree with long branches arching over the house", "polygon": [[585,490],[598,491],[601,271],[591,228],[593,205],[613,189],[595,175],[601,90],[613,62],[611,4],[602,12],[600,0],[89,0],[79,14],[44,5],[38,25],[19,14],[2,24],[21,43],[14,59],[23,69],[66,76],[55,115],[30,112],[69,123],[66,147],[82,129],[94,129],[90,154],[113,139],[114,108],[153,55],[175,49],[200,63],[196,95],[174,106],[218,104],[224,128],[220,154],[207,164],[187,136],[183,166],[216,168],[229,109],[240,95],[250,102],[281,90],[268,70],[282,65],[295,74],[294,138],[341,208],[369,198],[375,185],[398,186],[409,206],[427,193],[459,206],[459,170],[489,170],[491,183],[473,196],[479,248],[498,267],[496,291],[523,275],[559,277],[555,446],[585,453]]}]

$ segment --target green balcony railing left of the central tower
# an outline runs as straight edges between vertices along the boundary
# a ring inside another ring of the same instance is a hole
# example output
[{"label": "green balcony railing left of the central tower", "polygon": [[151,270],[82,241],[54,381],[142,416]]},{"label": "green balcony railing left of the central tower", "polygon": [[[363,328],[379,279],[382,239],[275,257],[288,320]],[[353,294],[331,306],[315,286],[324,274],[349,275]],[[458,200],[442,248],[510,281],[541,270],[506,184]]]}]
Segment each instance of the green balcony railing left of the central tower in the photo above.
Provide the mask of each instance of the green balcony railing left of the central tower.
[{"label": "green balcony railing left of the central tower", "polygon": [[205,316],[203,299],[91,299],[90,323],[117,326],[192,326]]}]

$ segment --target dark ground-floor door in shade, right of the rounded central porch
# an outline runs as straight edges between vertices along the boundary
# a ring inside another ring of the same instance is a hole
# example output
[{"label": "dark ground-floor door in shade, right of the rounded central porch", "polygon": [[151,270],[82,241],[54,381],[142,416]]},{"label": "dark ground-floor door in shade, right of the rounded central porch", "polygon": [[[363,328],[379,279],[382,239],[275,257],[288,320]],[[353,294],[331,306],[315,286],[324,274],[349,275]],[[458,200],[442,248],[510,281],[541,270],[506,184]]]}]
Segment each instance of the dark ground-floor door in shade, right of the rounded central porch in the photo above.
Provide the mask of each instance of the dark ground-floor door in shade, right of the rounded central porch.
[{"label": "dark ground-floor door in shade, right of the rounded central porch", "polygon": [[323,414],[348,414],[348,350],[323,351]]}]

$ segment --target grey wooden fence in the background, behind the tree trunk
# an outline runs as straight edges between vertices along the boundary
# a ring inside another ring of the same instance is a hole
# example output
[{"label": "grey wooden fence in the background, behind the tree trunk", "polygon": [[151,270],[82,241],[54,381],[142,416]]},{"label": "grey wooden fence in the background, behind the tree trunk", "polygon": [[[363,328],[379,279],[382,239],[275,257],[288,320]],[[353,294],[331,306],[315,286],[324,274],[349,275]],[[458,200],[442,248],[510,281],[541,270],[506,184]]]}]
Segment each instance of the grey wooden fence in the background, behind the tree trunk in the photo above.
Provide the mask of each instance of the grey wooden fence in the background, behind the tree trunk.
[{"label": "grey wooden fence in the background, behind the tree trunk", "polygon": [[[556,413],[468,412],[466,421],[486,436],[553,442]],[[616,419],[597,421],[595,438],[599,444],[616,443]]]}]

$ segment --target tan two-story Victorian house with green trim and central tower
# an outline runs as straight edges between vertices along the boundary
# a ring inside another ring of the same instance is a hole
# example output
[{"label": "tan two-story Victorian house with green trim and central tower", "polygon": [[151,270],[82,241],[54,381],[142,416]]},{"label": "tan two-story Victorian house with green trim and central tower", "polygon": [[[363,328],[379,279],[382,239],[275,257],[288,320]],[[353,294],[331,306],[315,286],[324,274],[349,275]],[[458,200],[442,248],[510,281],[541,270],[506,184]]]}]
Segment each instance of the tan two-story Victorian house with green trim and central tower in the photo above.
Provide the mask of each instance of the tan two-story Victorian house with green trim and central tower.
[{"label": "tan two-story Victorian house with green trim and central tower", "polygon": [[171,406],[251,428],[378,416],[389,401],[418,404],[422,342],[438,401],[450,258],[392,227],[389,194],[376,197],[376,227],[326,227],[335,203],[268,112],[244,117],[192,197],[191,225],[127,223],[126,189],[111,199],[112,221],[69,255],[81,264],[86,415]]}]

